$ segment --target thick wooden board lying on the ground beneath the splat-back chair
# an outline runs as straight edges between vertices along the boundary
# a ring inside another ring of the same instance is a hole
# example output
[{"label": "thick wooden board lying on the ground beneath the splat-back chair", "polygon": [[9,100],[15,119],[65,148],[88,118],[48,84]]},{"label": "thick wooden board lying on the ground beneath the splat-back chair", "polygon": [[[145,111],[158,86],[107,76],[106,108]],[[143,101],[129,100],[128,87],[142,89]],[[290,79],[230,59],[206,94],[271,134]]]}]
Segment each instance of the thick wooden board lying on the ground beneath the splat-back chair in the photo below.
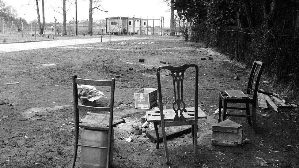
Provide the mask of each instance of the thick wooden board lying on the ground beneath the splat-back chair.
[{"label": "thick wooden board lying on the ground beneath the splat-back chair", "polygon": [[[158,128],[159,132],[159,142],[163,141],[163,135],[162,135],[162,129]],[[166,133],[166,139],[171,139],[183,134],[188,134],[191,132],[191,126],[190,125],[184,125],[184,126],[175,126],[175,127],[165,127],[165,133]],[[155,130],[149,130],[146,132],[146,136],[151,140],[153,143],[156,143],[157,137],[156,137],[156,131]]]}]

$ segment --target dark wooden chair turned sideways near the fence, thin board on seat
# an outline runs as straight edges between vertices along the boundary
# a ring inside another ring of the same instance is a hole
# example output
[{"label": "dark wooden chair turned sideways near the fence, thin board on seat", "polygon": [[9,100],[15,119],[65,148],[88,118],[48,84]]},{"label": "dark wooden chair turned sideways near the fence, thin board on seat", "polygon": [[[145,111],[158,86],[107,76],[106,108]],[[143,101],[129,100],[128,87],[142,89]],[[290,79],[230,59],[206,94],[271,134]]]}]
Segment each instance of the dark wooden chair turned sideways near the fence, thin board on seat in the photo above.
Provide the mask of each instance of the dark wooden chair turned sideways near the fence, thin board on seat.
[{"label": "dark wooden chair turned sideways near the fence, thin board on seat", "polygon": [[[245,117],[248,119],[248,124],[252,125],[255,133],[257,132],[257,126],[256,126],[256,115],[255,115],[255,109],[256,109],[256,98],[257,98],[257,91],[259,87],[259,80],[262,75],[264,65],[263,62],[260,61],[254,61],[249,80],[247,85],[247,95],[244,98],[240,97],[229,97],[228,94],[225,91],[220,91],[219,93],[219,118],[218,122],[221,122],[221,109],[223,108],[223,121],[226,119],[226,116],[234,116],[234,117]],[[252,86],[254,84],[254,78],[255,79],[255,86],[252,90]],[[223,106],[222,106],[223,102]],[[242,103],[246,104],[246,108],[241,107],[229,107],[227,106],[227,103]],[[250,114],[250,104],[252,104],[252,112]],[[236,110],[246,110],[246,115],[240,115],[240,114],[228,114],[226,113],[227,109],[236,109]],[[252,118],[252,122],[251,122]]]}]

